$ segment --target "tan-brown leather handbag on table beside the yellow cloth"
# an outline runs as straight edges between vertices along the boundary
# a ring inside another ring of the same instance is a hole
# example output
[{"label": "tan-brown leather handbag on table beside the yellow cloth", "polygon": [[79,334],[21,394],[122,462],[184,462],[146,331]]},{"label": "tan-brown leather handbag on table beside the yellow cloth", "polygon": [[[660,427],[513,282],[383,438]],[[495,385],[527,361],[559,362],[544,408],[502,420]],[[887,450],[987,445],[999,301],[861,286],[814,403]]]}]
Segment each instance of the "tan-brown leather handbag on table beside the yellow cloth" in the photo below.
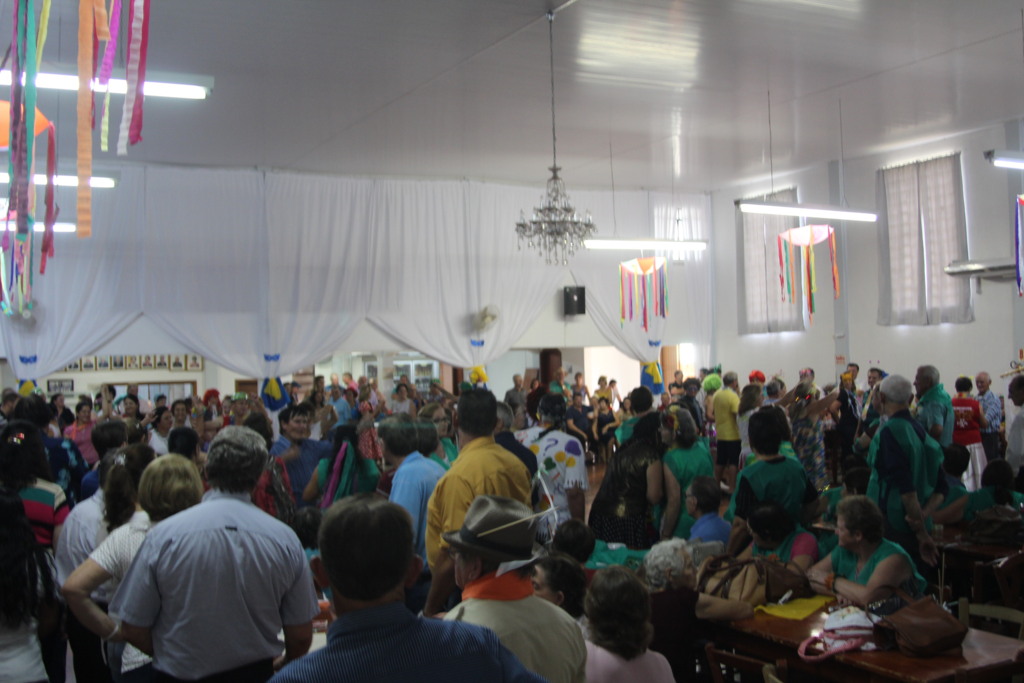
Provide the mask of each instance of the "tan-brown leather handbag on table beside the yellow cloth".
[{"label": "tan-brown leather handbag on table beside the yellow cloth", "polygon": [[794,598],[814,595],[807,577],[763,557],[737,560],[730,555],[709,557],[697,570],[697,591],[752,605],[778,602],[792,591]]}]

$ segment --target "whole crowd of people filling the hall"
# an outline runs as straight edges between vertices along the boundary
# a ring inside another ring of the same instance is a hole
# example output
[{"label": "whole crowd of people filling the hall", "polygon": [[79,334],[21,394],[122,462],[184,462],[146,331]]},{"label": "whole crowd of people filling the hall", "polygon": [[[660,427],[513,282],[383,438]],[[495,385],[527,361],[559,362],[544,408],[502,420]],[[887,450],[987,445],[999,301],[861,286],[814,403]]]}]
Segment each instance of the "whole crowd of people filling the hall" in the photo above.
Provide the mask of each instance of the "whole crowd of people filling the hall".
[{"label": "whole crowd of people filling the hall", "polygon": [[[709,369],[655,399],[559,371],[499,400],[343,375],[280,411],[4,390],[0,679],[62,681],[70,644],[90,682],[688,680],[700,621],[752,614],[697,592],[709,548],[867,604],[922,593],[933,523],[1024,502],[987,374],[858,376]],[[595,569],[623,547],[639,570]]]}]

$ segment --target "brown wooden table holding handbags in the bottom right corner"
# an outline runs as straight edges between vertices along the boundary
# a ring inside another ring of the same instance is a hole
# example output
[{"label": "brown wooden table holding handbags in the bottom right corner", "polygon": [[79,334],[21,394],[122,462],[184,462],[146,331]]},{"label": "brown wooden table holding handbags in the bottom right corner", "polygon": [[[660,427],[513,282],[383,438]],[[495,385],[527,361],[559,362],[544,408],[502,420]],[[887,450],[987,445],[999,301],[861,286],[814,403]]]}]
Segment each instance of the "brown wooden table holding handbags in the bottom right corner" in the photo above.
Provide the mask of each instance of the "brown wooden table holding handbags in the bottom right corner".
[{"label": "brown wooden table holding handbags in the bottom right corner", "polygon": [[968,632],[962,655],[910,657],[898,650],[876,650],[804,661],[797,648],[812,632],[821,629],[826,615],[819,610],[798,622],[759,612],[752,618],[717,627],[715,643],[766,661],[785,659],[796,678],[814,680],[945,683],[955,680],[957,670],[1005,668],[1008,679],[1024,673],[1024,642],[976,629]]}]

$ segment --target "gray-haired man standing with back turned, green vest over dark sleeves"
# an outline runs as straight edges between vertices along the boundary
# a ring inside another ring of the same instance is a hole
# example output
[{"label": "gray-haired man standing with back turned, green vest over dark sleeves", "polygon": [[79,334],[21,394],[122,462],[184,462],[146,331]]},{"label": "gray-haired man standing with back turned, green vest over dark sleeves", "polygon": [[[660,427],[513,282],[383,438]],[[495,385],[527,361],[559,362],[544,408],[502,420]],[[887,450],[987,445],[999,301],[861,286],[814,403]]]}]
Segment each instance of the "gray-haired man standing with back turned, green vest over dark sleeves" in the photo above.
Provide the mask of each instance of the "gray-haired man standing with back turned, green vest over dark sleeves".
[{"label": "gray-haired man standing with back turned, green vest over dark sleeves", "polygon": [[938,551],[929,533],[929,514],[949,490],[942,476],[942,449],[910,415],[910,382],[890,375],[881,385],[876,410],[889,419],[871,439],[873,463],[867,496],[886,518],[886,538],[914,558],[935,565]]}]

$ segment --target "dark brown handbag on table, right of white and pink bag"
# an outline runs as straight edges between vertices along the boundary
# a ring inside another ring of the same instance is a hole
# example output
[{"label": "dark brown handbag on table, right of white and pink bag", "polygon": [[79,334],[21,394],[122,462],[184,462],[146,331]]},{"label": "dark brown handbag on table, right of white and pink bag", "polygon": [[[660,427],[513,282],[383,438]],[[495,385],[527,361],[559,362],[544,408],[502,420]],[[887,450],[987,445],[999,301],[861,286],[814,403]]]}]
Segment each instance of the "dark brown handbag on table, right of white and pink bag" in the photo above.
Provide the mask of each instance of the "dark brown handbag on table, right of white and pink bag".
[{"label": "dark brown handbag on table, right of white and pink bag", "polygon": [[914,600],[901,590],[894,592],[907,605],[876,624],[877,634],[890,643],[894,642],[900,652],[912,657],[959,652],[968,631],[959,620],[931,596]]}]

